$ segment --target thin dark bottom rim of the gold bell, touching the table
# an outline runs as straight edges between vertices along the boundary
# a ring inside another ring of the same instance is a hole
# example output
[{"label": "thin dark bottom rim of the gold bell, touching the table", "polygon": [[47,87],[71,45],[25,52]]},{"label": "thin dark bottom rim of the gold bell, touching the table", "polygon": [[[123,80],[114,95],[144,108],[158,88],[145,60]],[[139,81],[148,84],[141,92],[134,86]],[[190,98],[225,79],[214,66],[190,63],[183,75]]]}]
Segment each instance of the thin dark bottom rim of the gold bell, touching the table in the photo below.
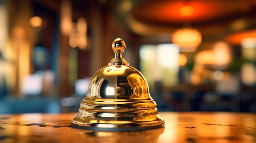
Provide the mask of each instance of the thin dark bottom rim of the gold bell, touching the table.
[{"label": "thin dark bottom rim of the gold bell, touching the table", "polygon": [[164,128],[164,123],[161,125],[154,125],[148,127],[130,127],[130,128],[97,128],[97,127],[86,127],[81,125],[75,125],[71,123],[72,128],[82,129],[82,130],[92,130],[101,132],[132,132],[132,131],[143,131],[143,130],[153,130],[158,128]]}]

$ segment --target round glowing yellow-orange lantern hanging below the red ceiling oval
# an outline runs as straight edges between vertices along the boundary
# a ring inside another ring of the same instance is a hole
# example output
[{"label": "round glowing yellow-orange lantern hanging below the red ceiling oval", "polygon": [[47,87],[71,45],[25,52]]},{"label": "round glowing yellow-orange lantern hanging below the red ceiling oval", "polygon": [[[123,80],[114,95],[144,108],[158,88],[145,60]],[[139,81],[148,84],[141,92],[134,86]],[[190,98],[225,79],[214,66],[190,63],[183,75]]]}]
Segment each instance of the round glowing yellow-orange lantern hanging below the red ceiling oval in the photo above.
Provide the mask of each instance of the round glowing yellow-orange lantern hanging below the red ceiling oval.
[{"label": "round glowing yellow-orange lantern hanging below the red ceiling oval", "polygon": [[201,44],[202,36],[197,29],[182,28],[173,33],[172,40],[180,46],[181,52],[192,52]]}]

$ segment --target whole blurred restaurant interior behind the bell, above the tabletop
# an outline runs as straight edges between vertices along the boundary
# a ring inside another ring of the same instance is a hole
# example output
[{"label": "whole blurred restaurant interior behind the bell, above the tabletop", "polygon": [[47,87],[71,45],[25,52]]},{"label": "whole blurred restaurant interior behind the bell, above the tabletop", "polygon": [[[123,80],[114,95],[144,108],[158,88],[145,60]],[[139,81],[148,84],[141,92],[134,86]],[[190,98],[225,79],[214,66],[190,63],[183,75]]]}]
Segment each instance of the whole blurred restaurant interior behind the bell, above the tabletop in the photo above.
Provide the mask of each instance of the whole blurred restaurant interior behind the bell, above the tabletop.
[{"label": "whole blurred restaurant interior behind the bell, above the tabletop", "polygon": [[77,112],[118,37],[159,111],[256,112],[256,0],[0,0],[0,114]]}]

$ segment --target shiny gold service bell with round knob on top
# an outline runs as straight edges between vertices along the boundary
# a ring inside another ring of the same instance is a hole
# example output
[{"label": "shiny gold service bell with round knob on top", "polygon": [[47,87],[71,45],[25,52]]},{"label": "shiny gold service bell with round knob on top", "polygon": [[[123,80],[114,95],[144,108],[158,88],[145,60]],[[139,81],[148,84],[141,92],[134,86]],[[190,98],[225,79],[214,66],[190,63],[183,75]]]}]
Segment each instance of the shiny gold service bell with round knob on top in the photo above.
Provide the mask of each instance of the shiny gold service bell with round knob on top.
[{"label": "shiny gold service bell with round knob on top", "polygon": [[92,76],[71,126],[93,131],[141,131],[164,127],[145,77],[122,57],[124,40],[112,42],[115,57]]}]

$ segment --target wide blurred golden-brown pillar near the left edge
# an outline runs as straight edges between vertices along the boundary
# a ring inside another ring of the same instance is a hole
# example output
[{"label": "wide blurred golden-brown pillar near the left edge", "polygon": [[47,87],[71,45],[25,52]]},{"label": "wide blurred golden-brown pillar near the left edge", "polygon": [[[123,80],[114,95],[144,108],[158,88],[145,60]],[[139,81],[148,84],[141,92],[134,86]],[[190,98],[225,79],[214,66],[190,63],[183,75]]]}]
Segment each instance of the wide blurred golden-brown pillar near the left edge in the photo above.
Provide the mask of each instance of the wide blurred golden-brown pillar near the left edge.
[{"label": "wide blurred golden-brown pillar near the left edge", "polygon": [[31,73],[31,49],[34,46],[34,32],[29,25],[32,15],[31,1],[8,0],[9,44],[4,57],[10,62],[7,84],[11,94],[19,95],[22,79]]}]

